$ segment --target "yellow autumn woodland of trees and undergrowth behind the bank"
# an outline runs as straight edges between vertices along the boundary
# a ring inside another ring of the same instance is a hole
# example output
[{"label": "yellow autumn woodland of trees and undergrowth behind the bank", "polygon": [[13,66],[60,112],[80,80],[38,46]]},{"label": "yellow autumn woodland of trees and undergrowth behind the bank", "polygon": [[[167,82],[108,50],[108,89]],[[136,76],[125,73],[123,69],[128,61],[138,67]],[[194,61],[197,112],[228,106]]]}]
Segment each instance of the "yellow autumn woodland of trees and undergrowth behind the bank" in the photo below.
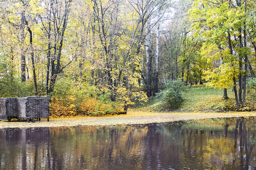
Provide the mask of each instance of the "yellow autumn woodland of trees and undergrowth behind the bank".
[{"label": "yellow autumn woodland of trees and undergrowth behind the bank", "polygon": [[11,0],[0,10],[1,97],[126,112],[181,80],[233,88],[246,107],[255,1]]}]

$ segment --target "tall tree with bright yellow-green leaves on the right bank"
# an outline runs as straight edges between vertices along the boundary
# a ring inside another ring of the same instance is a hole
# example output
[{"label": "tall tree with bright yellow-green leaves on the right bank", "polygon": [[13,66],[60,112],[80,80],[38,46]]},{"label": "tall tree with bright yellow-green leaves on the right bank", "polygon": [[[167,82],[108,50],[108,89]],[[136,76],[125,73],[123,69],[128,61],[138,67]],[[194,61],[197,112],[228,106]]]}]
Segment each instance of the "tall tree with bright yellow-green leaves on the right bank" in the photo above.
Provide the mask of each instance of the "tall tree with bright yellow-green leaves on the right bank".
[{"label": "tall tree with bright yellow-green leaves on the right bank", "polygon": [[[247,74],[247,69],[242,70],[242,64],[248,63],[246,55],[250,53],[250,49],[244,47],[246,43],[244,45],[242,43],[243,37],[241,33],[242,29],[245,29],[244,15],[246,14],[244,6],[241,5],[243,2],[236,1],[236,4],[233,4],[233,1],[203,1],[200,4],[198,2],[195,1],[195,6],[190,11],[190,14],[192,18],[197,15],[197,19],[192,19],[195,21],[195,33],[201,33],[206,38],[202,54],[206,57],[212,56],[215,59],[223,56],[224,61],[219,68],[214,69],[214,72],[207,72],[208,78],[211,78],[212,85],[219,88],[228,88],[229,84],[233,85],[236,107],[238,108],[239,102],[241,103],[242,101],[243,84],[246,81],[243,76],[246,77],[245,74]],[[244,34],[244,39],[246,39],[246,34]],[[219,49],[221,49],[220,52],[218,52]],[[233,52],[234,50],[236,53]],[[210,61],[212,62],[212,60]],[[247,68],[247,66],[244,67]],[[222,73],[220,74],[220,72]],[[238,94],[236,91],[237,74],[239,74]],[[245,95],[246,93],[244,93],[244,98]]]}]

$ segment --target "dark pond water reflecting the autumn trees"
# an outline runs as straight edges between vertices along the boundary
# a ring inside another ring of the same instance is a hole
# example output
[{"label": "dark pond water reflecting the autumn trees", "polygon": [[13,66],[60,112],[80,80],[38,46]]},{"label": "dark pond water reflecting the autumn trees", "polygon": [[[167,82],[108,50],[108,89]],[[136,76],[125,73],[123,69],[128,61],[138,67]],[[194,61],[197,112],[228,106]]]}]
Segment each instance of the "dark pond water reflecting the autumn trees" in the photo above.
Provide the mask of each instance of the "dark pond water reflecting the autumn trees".
[{"label": "dark pond water reflecting the autumn trees", "polygon": [[0,129],[0,169],[254,169],[256,118]]}]

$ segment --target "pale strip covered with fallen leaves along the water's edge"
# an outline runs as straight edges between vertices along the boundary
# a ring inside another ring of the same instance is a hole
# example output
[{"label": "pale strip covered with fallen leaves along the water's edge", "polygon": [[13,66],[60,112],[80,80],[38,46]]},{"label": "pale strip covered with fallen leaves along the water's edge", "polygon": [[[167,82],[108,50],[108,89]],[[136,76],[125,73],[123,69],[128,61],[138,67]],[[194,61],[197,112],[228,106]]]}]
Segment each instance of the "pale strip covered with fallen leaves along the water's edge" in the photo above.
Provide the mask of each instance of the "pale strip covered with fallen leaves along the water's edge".
[{"label": "pale strip covered with fallen leaves along the water's edge", "polygon": [[248,117],[256,116],[256,112],[225,112],[225,113],[180,113],[180,112],[137,112],[129,111],[127,115],[114,115],[104,117],[61,117],[27,123],[26,121],[6,120],[0,122],[0,128],[33,128],[33,127],[60,127],[77,125],[124,125],[163,123],[178,120],[205,119],[216,117]]}]

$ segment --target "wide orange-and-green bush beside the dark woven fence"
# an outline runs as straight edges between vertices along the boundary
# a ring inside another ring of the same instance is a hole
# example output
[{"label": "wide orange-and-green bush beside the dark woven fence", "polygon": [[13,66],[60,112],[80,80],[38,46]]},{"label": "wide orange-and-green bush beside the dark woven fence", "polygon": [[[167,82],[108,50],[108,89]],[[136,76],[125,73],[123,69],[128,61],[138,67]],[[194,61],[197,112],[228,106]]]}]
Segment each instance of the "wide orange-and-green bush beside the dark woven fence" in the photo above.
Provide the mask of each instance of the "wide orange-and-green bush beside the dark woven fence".
[{"label": "wide orange-and-green bush beside the dark woven fence", "polygon": [[86,85],[60,77],[50,94],[50,113],[54,117],[107,115],[124,112],[123,106],[110,100],[108,89]]}]

